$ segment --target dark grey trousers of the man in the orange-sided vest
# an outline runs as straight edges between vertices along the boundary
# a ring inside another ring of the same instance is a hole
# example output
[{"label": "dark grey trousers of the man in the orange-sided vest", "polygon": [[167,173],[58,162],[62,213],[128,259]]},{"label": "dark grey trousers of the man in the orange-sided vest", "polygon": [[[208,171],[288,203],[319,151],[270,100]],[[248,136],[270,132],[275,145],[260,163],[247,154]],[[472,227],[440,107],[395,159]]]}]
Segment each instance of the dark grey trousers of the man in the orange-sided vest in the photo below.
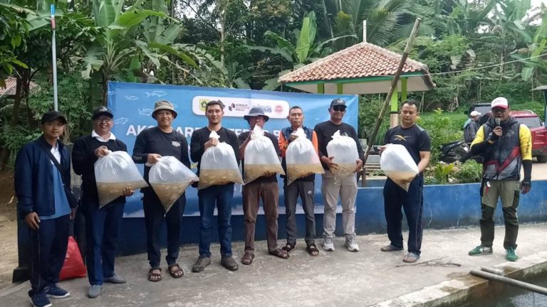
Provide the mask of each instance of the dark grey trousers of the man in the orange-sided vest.
[{"label": "dark grey trousers of the man in the orange-sided vest", "polygon": [[283,187],[285,195],[285,218],[287,228],[287,243],[296,244],[298,230],[296,228],[296,202],[298,196],[302,200],[302,208],[306,215],[306,244],[313,244],[316,237],[316,216],[313,212],[313,181],[294,181]]}]

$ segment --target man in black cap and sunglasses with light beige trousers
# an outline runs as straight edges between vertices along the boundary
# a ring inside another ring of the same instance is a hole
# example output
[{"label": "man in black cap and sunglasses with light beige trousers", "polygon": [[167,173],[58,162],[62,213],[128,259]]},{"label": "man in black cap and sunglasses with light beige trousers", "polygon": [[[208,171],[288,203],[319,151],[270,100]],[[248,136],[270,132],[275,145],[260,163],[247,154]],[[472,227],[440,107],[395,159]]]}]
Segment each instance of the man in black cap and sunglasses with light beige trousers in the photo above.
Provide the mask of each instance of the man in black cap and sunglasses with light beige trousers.
[{"label": "man in black cap and sunglasses with light beige trousers", "polygon": [[357,197],[357,176],[354,174],[342,178],[339,182],[334,181],[333,173],[330,171],[336,168],[333,158],[327,155],[327,144],[333,134],[340,130],[340,135],[350,136],[357,143],[359,159],[355,161],[355,171],[363,168],[363,148],[357,138],[357,132],[353,126],[345,124],[342,119],[345,114],[345,101],[342,98],[333,99],[330,102],[328,112],[330,119],[319,123],[313,128],[316,131],[319,147],[319,158],[325,168],[321,192],[323,193],[323,204],[325,211],[323,215],[323,249],[332,252],[334,250],[334,230],[336,228],[336,206],[338,198],[342,203],[342,227],[345,235],[344,246],[350,252],[358,252],[359,245],[355,241],[355,198]]}]

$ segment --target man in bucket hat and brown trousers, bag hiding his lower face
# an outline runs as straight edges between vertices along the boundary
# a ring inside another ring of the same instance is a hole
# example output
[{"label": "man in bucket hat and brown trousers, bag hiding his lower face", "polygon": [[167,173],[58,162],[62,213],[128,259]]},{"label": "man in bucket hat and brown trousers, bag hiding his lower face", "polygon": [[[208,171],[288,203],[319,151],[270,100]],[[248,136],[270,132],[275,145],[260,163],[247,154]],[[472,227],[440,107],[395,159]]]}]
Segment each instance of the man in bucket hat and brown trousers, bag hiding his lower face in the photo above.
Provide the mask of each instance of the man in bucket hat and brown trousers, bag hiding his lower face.
[{"label": "man in bucket hat and brown trousers, bag hiding his lower face", "polygon": [[[277,217],[279,187],[277,184],[277,172],[283,172],[279,162],[278,139],[275,135],[263,131],[264,124],[268,122],[269,117],[264,114],[264,110],[259,107],[253,107],[249,114],[244,116],[249,122],[251,131],[239,134],[239,154],[241,160],[248,158],[249,161],[259,161],[261,156],[263,162],[259,164],[249,164],[244,161],[243,173],[247,178],[243,186],[243,212],[245,215],[245,253],[241,258],[242,264],[251,264],[254,259],[254,232],[256,228],[256,215],[259,212],[259,203],[262,200],[264,205],[264,215],[266,217],[266,240],[269,254],[287,259],[288,253],[277,247]],[[269,143],[271,141],[271,144]],[[273,145],[273,146],[272,146]],[[249,150],[247,147],[249,146]],[[273,160],[268,159],[273,156]],[[249,170],[248,168],[250,166]],[[278,167],[277,167],[278,166]],[[264,170],[266,172],[264,173]],[[261,171],[262,173],[255,173]],[[249,175],[249,172],[251,175]],[[255,178],[258,176],[258,178]],[[251,180],[252,181],[249,181]]]}]

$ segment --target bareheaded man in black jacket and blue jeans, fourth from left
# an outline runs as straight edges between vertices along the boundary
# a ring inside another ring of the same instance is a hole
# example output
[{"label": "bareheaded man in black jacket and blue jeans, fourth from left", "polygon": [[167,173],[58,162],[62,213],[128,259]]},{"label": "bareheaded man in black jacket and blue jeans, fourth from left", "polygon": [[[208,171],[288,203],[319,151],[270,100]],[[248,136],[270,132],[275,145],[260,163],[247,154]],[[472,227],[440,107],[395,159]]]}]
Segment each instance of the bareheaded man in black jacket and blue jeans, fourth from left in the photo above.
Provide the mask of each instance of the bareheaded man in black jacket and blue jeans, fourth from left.
[{"label": "bareheaded man in black jacket and blue jeans, fourth from left", "polygon": [[[197,129],[192,134],[190,141],[190,156],[192,161],[197,162],[197,172],[202,163],[202,156],[206,149],[217,146],[219,142],[226,142],[234,149],[236,161],[239,163],[239,149],[237,136],[234,131],[222,126],[224,117],[224,104],[220,100],[212,100],[205,105],[205,116],[207,126]],[[209,135],[216,131],[219,139],[211,138]],[[199,203],[199,257],[192,266],[192,271],[198,273],[211,264],[211,230],[214,223],[214,206],[217,205],[218,229],[220,242],[220,264],[230,271],[239,269],[234,257],[231,254],[231,198],[234,196],[234,183],[212,185],[197,191]]]}]

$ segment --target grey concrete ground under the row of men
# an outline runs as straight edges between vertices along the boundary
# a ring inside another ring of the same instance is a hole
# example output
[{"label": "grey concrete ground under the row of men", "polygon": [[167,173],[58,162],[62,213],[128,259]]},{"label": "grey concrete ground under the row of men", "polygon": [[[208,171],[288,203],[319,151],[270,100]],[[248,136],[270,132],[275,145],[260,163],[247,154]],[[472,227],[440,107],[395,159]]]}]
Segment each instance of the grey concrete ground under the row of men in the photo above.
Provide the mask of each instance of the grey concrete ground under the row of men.
[{"label": "grey concrete ground under the row of men", "polygon": [[[335,252],[322,250],[318,257],[308,256],[300,239],[287,260],[268,255],[265,242],[258,242],[254,263],[240,264],[235,272],[220,266],[219,245],[214,244],[212,264],[197,274],[190,271],[197,247],[187,246],[179,257],[186,274],[172,279],[164,262],[164,279],[157,283],[146,279],[145,254],[119,257],[117,271],[127,284],[105,284],[102,294],[90,299],[87,279],[63,281],[71,297],[53,306],[414,306],[483,283],[468,274],[480,266],[510,271],[547,263],[545,224],[521,226],[519,262],[506,262],[503,227],[496,228],[494,254],[469,257],[479,236],[478,228],[426,231],[417,264],[403,263],[405,252],[380,252],[386,235],[358,237],[360,252],[348,252],[337,238]],[[243,244],[235,243],[238,262],[242,252]],[[27,282],[0,290],[1,306],[29,306],[28,289]]]}]

